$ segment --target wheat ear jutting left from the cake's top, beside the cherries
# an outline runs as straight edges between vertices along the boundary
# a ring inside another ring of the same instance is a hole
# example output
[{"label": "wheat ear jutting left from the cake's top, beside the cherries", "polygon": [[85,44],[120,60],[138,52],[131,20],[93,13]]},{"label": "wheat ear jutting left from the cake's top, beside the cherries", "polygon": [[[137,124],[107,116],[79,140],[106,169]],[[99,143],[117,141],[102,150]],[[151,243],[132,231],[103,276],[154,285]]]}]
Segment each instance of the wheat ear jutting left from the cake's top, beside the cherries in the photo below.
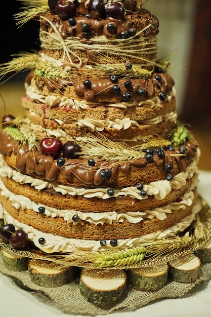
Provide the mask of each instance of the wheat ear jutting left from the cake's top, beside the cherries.
[{"label": "wheat ear jutting left from the cake's top, beside the cherries", "polygon": [[37,18],[40,15],[49,11],[48,0],[18,0],[21,1],[25,7],[22,7],[23,12],[14,15],[17,20],[17,25],[22,26],[29,20]]}]

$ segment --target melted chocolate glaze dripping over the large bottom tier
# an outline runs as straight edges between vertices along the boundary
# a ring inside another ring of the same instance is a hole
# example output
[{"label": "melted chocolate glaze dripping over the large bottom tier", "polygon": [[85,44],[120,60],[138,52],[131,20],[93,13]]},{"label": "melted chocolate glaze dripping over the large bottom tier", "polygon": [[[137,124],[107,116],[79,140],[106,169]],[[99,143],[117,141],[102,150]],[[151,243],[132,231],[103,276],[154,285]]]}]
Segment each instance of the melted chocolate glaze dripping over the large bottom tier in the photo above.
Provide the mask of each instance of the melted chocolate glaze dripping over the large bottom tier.
[{"label": "melted chocolate glaze dripping over the large bottom tier", "polygon": [[[175,155],[178,167],[181,171],[185,171],[187,165],[193,160],[196,153],[196,146],[187,142],[185,144],[187,151],[186,155],[180,156]],[[156,166],[163,166],[165,169],[166,164],[173,163],[174,154],[178,154],[179,150],[175,151],[165,150],[165,158],[160,159],[157,154],[153,155],[152,163],[149,163],[145,158],[139,160],[131,160],[127,162],[119,162],[113,165],[112,162],[96,161],[94,168],[88,164],[88,159],[65,159],[66,163],[59,167],[57,160],[54,160],[52,156],[42,154],[39,150],[29,151],[28,146],[20,145],[11,136],[7,135],[2,131],[0,133],[0,152],[3,155],[16,155],[16,169],[20,172],[27,171],[28,173],[36,173],[37,175],[46,176],[49,181],[54,181],[60,171],[64,178],[68,179],[74,174],[83,184],[86,185],[100,185],[103,180],[100,177],[100,173],[106,168],[111,168],[111,177],[107,180],[107,185],[112,183],[116,178],[118,170],[122,173],[127,173],[132,166],[142,167],[147,164],[155,164]]]}]

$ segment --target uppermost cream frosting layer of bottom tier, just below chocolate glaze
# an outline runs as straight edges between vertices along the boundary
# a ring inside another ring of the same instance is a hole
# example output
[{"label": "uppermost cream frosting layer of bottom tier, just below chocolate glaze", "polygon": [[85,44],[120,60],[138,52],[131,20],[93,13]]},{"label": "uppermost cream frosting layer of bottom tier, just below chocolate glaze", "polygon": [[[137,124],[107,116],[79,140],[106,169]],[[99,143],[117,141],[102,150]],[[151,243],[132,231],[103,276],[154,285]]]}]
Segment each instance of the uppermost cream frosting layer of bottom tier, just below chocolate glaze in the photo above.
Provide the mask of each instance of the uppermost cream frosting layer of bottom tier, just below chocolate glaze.
[{"label": "uppermost cream frosting layer of bottom tier, just below chocolate glaze", "polygon": [[[197,152],[199,154],[199,151]],[[142,200],[147,199],[148,196],[154,196],[157,200],[163,200],[165,196],[172,191],[172,189],[180,189],[184,186],[188,179],[197,173],[198,167],[198,155],[196,155],[195,160],[187,167],[185,172],[181,172],[174,176],[171,181],[166,179],[151,182],[144,184],[143,189],[146,191],[147,195],[145,197],[140,195],[140,190],[136,186],[123,187],[121,189],[115,189],[114,195],[112,197],[117,197],[119,195],[130,196],[132,198]],[[57,192],[61,192],[63,195],[80,195],[86,198],[97,197],[100,199],[109,199],[111,198],[107,190],[110,187],[106,188],[75,188],[72,186],[66,186],[62,184],[54,184],[48,181],[43,181],[24,175],[21,172],[18,172],[11,167],[9,167],[3,157],[0,160],[0,173],[2,177],[9,177],[15,180],[20,184],[31,184],[34,188],[41,190],[45,188],[53,188]]]}]

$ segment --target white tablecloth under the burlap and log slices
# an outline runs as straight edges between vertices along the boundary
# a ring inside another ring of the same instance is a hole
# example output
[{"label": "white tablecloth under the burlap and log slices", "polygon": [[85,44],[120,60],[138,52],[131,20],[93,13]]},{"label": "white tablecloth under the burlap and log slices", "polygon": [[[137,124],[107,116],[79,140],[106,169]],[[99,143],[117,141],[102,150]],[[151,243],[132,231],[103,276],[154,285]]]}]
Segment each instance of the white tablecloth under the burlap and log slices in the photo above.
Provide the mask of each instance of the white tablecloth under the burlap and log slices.
[{"label": "white tablecloth under the burlap and log slices", "polygon": [[[211,172],[200,171],[198,191],[211,206]],[[59,311],[48,298],[18,288],[14,282],[0,273],[0,314],[1,317],[70,317]],[[187,298],[165,299],[133,313],[114,313],[111,317],[210,317],[211,281],[197,286]],[[79,316],[81,317],[81,316]]]}]

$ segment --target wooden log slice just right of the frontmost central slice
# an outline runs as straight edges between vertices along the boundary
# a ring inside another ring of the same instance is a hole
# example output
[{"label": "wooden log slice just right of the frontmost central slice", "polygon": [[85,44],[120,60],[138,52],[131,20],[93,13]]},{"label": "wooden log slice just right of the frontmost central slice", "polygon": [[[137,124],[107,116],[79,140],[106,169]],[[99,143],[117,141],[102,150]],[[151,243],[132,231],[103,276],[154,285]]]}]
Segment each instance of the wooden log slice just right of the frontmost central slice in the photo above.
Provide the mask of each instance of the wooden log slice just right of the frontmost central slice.
[{"label": "wooden log slice just right of the frontmost central slice", "polygon": [[156,291],[161,289],[168,279],[168,265],[130,268],[127,271],[129,283],[142,291]]}]

